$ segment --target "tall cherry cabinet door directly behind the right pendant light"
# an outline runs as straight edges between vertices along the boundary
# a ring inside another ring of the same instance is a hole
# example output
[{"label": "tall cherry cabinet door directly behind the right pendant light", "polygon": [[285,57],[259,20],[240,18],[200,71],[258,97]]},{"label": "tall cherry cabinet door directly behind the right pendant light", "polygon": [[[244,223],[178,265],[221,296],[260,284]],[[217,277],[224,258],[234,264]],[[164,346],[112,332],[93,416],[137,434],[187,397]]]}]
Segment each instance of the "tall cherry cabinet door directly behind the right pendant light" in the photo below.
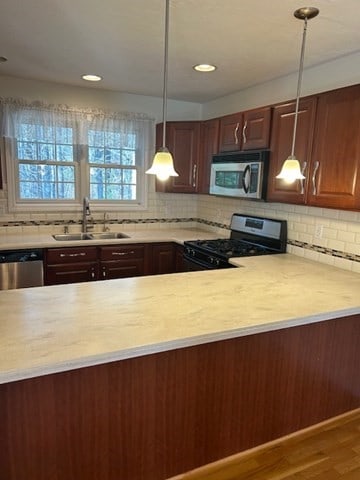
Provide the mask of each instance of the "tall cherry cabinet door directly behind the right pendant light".
[{"label": "tall cherry cabinet door directly behind the right pendant light", "polygon": [[[300,161],[305,176],[309,171],[311,148],[314,130],[316,98],[309,97],[300,101],[295,142],[295,155]],[[295,102],[277,105],[273,110],[272,132],[270,141],[270,168],[268,178],[267,200],[286,203],[304,203],[304,182],[297,180],[286,183],[276,175],[280,172],[283,162],[291,153],[295,119]]]}]

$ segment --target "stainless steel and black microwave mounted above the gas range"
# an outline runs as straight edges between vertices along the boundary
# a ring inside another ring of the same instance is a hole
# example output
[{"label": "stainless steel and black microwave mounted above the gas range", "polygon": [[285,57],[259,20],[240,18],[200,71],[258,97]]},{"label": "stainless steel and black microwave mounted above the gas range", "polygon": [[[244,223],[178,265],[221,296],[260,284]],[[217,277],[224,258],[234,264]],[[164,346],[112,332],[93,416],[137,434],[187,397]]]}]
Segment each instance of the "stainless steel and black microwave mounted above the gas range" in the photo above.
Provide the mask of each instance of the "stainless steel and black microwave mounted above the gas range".
[{"label": "stainless steel and black microwave mounted above the gas range", "polygon": [[265,199],[269,150],[213,155],[210,194]]}]

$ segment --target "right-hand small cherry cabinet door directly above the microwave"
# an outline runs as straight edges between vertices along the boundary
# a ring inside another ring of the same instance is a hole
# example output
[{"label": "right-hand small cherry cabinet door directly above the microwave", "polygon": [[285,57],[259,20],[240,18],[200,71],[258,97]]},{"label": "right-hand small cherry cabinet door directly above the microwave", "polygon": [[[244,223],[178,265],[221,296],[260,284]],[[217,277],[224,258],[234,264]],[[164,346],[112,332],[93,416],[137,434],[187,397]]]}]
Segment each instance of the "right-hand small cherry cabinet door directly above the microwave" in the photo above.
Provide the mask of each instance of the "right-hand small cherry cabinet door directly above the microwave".
[{"label": "right-hand small cherry cabinet door directly above the microwave", "polygon": [[257,108],[244,112],[242,150],[269,148],[271,108]]}]

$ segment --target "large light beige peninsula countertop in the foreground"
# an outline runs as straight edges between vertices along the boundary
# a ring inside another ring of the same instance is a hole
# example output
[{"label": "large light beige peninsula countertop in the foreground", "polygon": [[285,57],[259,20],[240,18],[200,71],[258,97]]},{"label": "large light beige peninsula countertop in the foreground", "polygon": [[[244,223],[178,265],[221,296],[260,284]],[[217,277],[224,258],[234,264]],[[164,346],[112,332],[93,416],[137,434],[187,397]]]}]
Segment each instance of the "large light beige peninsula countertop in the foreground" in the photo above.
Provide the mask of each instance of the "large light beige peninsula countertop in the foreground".
[{"label": "large light beige peninsula countertop in the foreground", "polygon": [[290,254],[240,268],[0,291],[0,383],[360,313],[360,275]]}]

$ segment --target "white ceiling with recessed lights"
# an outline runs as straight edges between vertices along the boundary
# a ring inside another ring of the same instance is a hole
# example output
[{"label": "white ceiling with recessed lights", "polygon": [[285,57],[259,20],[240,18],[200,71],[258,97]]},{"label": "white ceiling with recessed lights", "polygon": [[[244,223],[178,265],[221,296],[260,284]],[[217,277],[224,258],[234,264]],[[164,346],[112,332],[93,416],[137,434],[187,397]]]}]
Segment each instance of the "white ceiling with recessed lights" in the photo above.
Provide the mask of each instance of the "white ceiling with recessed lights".
[{"label": "white ceiling with recessed lights", "polygon": [[[314,0],[305,68],[359,51],[360,0]],[[296,72],[299,0],[171,0],[168,97],[206,102]],[[306,5],[306,6],[309,6]],[[1,0],[0,75],[162,95],[165,0]],[[196,63],[215,63],[212,74]],[[84,82],[83,73],[103,81]],[[360,77],[360,71],[359,71]]]}]

